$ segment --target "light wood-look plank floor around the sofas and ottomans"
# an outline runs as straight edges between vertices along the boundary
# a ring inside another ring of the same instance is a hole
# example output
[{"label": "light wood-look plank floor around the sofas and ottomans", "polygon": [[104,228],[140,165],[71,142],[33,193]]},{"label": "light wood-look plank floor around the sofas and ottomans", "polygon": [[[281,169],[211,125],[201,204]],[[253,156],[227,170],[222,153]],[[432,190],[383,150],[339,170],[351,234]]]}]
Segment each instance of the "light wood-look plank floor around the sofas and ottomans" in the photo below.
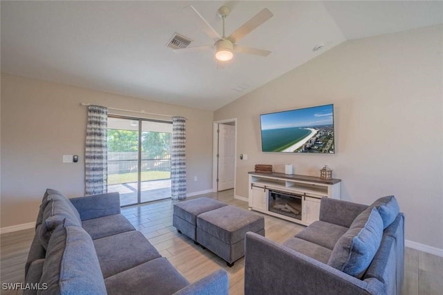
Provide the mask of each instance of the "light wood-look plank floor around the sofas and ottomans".
[{"label": "light wood-look plank floor around the sofas and ottomans", "polygon": [[[205,195],[228,204],[247,209],[247,203],[236,200],[233,190]],[[243,294],[244,258],[237,260],[233,267],[227,267],[224,260],[208,250],[197,246],[172,227],[171,200],[142,204],[122,208],[122,213],[141,231],[156,249],[170,260],[190,282],[199,280],[219,268],[226,269],[229,275],[229,294]],[[260,214],[260,213],[257,213]],[[264,215],[266,238],[275,242],[284,242],[304,227],[292,222]],[[0,281],[1,283],[19,283],[24,281],[24,264],[34,230],[26,229],[0,236]],[[404,295],[440,295],[443,294],[443,258],[406,248]],[[1,294],[21,294],[4,291]]]}]

